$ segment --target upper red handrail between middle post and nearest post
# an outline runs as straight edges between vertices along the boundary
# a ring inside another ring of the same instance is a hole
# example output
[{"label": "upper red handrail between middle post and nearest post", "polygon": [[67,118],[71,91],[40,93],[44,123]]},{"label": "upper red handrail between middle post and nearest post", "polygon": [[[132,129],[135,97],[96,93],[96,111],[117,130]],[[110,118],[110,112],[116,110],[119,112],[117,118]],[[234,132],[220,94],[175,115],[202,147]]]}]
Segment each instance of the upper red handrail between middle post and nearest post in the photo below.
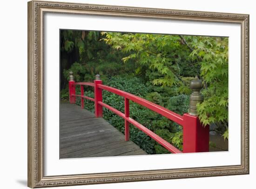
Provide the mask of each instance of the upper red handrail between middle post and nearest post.
[{"label": "upper red handrail between middle post and nearest post", "polygon": [[108,87],[106,85],[99,85],[99,88],[107,90],[109,92],[115,93],[116,95],[120,95],[123,96],[125,98],[128,98],[131,101],[134,101],[144,107],[147,107],[150,110],[153,110],[156,113],[159,113],[161,115],[163,115],[164,117],[175,121],[177,124],[182,125],[183,124],[183,117],[177,113],[174,113],[164,107],[161,107],[153,102],[147,101],[145,99],[142,99],[141,97],[132,95],[130,93],[127,93],[125,91],[113,88],[113,87]]}]

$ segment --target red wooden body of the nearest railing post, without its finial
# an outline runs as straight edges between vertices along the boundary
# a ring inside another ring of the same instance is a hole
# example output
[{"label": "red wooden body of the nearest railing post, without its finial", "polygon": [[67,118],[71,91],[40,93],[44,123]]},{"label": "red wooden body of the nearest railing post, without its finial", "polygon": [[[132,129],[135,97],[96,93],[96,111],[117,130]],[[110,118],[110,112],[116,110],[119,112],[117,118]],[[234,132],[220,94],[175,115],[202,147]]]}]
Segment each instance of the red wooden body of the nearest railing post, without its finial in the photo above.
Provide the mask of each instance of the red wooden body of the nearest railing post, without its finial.
[{"label": "red wooden body of the nearest railing post, without its finial", "polygon": [[209,126],[202,126],[197,116],[183,114],[183,153],[209,151]]}]

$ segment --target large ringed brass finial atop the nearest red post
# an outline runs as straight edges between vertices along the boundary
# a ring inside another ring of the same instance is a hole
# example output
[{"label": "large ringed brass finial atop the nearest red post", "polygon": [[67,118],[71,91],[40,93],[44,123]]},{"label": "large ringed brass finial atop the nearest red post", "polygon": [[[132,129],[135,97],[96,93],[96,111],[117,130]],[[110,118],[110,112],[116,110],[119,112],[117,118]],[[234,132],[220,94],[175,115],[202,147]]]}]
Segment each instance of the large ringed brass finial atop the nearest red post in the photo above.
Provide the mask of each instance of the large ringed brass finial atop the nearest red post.
[{"label": "large ringed brass finial atop the nearest red post", "polygon": [[196,112],[196,104],[202,103],[203,95],[200,93],[202,89],[202,80],[198,79],[198,76],[195,76],[190,82],[190,88],[193,90],[189,97],[189,114],[190,115],[197,115]]}]

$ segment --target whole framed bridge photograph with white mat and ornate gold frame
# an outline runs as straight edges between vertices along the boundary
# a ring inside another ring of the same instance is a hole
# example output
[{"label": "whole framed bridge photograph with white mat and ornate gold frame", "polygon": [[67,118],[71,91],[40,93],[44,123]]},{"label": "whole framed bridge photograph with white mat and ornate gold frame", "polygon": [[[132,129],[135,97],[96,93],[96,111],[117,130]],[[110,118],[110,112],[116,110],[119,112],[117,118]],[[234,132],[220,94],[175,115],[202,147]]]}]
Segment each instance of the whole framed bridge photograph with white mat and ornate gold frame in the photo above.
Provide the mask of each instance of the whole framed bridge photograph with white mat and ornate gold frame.
[{"label": "whole framed bridge photograph with white mat and ornate gold frame", "polygon": [[249,174],[249,15],[28,2],[28,186]]}]

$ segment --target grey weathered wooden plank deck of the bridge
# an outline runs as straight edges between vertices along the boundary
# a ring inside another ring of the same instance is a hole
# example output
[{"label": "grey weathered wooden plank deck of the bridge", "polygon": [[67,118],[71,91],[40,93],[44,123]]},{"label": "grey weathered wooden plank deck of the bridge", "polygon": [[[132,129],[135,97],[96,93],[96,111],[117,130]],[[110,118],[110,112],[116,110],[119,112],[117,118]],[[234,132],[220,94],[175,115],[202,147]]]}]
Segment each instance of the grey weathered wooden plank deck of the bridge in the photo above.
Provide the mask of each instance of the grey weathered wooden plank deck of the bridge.
[{"label": "grey weathered wooden plank deck of the bridge", "polygon": [[103,118],[75,104],[60,104],[60,158],[145,154]]}]

